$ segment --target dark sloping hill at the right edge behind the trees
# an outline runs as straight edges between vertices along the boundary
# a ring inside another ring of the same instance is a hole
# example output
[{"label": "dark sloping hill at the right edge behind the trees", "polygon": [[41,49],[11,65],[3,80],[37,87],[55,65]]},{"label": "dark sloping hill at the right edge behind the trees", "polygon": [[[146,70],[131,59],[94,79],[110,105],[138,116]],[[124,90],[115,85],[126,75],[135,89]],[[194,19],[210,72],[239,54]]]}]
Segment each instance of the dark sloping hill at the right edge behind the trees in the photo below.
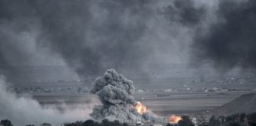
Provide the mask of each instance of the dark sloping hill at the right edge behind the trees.
[{"label": "dark sloping hill at the right edge behind the trees", "polygon": [[256,94],[241,95],[233,101],[224,104],[213,110],[213,113],[219,115],[228,115],[232,113],[253,113],[256,112]]}]

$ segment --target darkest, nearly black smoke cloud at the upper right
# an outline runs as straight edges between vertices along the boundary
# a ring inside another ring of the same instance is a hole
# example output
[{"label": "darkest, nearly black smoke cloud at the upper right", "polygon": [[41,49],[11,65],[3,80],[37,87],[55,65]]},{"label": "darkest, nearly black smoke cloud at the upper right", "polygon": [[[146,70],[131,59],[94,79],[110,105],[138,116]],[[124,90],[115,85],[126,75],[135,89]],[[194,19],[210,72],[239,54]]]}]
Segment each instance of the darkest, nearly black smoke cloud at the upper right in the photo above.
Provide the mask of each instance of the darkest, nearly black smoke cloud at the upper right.
[{"label": "darkest, nearly black smoke cloud at the upper right", "polygon": [[216,16],[218,21],[195,39],[194,62],[210,62],[218,69],[255,69],[256,2],[220,1]]}]

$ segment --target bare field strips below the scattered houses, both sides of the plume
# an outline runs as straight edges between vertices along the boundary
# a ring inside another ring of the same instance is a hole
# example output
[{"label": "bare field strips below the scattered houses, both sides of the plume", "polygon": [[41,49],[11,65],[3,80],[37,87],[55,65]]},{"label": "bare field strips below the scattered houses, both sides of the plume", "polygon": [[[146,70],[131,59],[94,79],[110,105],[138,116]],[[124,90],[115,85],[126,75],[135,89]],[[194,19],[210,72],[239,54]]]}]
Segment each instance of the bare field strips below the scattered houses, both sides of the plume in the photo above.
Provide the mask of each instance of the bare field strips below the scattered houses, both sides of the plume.
[{"label": "bare field strips below the scattered houses, both sides of the plume", "polygon": [[[148,109],[158,114],[186,114],[206,112],[222,106],[227,102],[239,97],[240,95],[251,91],[230,91],[227,93],[163,93],[163,92],[146,92],[137,93],[135,98],[137,101],[145,104]],[[34,95],[41,105],[62,105],[63,102],[70,107],[77,105],[85,105],[92,107],[92,104],[100,104],[96,95],[81,94],[51,94],[51,95]]]}]

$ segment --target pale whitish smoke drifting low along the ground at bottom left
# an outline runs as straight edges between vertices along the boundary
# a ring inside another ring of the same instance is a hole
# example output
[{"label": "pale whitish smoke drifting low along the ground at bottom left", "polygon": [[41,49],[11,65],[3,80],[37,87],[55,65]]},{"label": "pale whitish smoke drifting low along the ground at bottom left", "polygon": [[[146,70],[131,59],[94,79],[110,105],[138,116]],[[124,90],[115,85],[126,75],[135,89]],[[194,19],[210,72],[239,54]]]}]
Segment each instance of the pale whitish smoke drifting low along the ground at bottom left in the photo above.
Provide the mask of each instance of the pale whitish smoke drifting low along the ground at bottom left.
[{"label": "pale whitish smoke drifting low along the ground at bottom left", "polygon": [[62,106],[60,112],[56,107],[43,108],[39,102],[28,97],[18,97],[6,88],[6,81],[0,76],[0,119],[9,119],[14,125],[36,124],[44,122],[62,124],[64,122],[86,120],[91,113],[89,105],[69,109]]}]

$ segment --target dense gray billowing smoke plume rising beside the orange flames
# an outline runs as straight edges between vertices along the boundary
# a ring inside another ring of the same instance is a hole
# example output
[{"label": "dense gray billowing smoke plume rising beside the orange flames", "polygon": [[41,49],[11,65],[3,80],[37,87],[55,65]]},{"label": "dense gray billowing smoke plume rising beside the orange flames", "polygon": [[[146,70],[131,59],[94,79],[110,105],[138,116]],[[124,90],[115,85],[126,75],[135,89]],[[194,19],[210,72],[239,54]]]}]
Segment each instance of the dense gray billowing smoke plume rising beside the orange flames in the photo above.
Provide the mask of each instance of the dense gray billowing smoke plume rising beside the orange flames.
[{"label": "dense gray billowing smoke plume rising beside the orange flames", "polygon": [[131,80],[109,69],[104,76],[98,77],[93,83],[92,93],[100,98],[102,106],[93,108],[92,116],[96,120],[152,120],[166,121],[151,111],[137,112],[137,101],[134,99],[134,85]]}]

